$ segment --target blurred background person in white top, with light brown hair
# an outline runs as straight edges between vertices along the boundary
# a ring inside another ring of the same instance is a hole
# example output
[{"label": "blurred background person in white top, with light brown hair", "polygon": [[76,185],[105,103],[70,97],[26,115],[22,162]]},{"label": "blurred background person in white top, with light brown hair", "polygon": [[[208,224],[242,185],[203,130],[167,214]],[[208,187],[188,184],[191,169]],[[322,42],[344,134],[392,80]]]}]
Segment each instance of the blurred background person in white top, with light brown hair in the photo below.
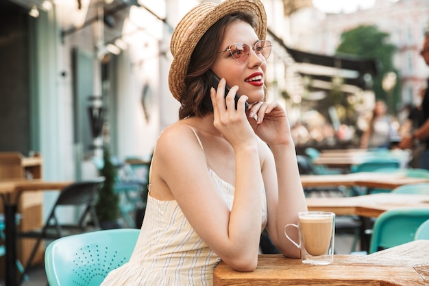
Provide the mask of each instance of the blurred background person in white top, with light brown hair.
[{"label": "blurred background person in white top, with light brown hair", "polygon": [[391,139],[397,135],[393,128],[394,119],[387,114],[387,106],[382,100],[377,100],[367,130],[360,138],[361,148],[389,148]]}]

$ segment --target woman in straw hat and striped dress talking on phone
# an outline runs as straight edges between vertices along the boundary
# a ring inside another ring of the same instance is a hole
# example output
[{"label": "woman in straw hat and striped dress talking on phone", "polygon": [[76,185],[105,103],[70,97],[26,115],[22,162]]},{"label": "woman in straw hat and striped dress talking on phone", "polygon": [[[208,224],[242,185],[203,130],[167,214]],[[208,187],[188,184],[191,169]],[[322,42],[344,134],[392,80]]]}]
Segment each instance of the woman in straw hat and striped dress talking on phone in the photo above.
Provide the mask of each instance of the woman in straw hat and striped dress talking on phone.
[{"label": "woman in straw hat and striped dress talking on phone", "polygon": [[[262,3],[248,0],[201,3],[177,25],[169,86],[180,121],[158,139],[130,262],[102,285],[212,285],[220,260],[256,268],[265,228],[285,256],[299,257],[284,226],[297,223],[306,203],[286,113],[262,102],[266,29]],[[217,91],[209,69],[221,78]]]}]

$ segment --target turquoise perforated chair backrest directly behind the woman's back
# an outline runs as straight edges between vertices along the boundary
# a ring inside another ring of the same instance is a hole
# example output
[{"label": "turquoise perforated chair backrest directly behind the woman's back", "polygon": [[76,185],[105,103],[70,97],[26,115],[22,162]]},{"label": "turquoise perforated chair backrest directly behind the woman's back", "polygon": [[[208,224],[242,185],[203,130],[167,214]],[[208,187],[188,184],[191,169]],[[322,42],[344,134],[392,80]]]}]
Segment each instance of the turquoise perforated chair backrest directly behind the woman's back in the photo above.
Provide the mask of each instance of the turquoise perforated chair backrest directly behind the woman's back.
[{"label": "turquoise perforated chair backrest directly behind the woman's back", "polygon": [[130,260],[139,233],[136,228],[97,230],[51,242],[45,252],[49,285],[100,285]]}]

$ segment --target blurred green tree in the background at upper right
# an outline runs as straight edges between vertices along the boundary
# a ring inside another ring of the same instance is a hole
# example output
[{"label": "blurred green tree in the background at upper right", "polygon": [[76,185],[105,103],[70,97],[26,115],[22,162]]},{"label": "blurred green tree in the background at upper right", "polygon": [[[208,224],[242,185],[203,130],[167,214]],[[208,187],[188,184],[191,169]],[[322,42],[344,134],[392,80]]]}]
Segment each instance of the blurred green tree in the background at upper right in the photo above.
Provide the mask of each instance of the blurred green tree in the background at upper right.
[{"label": "blurred green tree in the background at upper right", "polygon": [[[373,91],[376,99],[384,100],[389,109],[395,113],[394,104],[398,102],[400,82],[396,82],[391,95],[382,88],[382,80],[385,74],[393,71],[393,55],[397,47],[388,43],[389,34],[381,32],[376,25],[360,25],[341,34],[341,43],[336,48],[337,54],[349,54],[362,58],[374,58],[378,63],[378,74],[373,78]],[[390,98],[389,98],[390,97]]]}]

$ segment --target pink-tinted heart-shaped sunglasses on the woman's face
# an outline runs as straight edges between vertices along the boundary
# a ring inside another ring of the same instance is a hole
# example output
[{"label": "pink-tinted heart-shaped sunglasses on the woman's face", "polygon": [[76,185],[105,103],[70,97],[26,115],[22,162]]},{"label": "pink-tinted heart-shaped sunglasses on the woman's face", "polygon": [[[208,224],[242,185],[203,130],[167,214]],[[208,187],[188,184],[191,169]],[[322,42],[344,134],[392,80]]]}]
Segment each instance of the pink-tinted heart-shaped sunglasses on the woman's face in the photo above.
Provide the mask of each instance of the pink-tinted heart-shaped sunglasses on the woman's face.
[{"label": "pink-tinted heart-shaped sunglasses on the woman's face", "polygon": [[[252,46],[252,49],[261,60],[267,60],[271,53],[272,46],[269,40],[258,40],[258,42]],[[251,46],[246,43],[234,43],[231,44],[228,49],[219,51],[219,53],[229,51],[236,62],[247,62],[250,58],[250,48]]]}]

